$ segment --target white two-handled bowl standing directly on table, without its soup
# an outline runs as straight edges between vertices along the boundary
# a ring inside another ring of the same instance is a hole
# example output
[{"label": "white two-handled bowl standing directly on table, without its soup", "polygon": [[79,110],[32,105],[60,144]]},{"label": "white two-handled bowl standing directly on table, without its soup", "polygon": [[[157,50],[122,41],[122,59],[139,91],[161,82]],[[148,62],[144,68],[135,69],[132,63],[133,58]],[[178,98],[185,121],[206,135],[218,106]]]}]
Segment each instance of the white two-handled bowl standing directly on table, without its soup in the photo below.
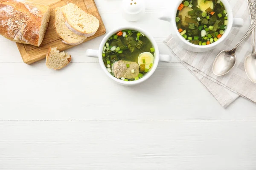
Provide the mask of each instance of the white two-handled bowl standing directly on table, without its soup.
[{"label": "white two-handled bowl standing directly on table, without its soup", "polygon": [[[142,78],[138,79],[138,80],[134,80],[134,81],[124,81],[121,79],[117,79],[116,77],[113,77],[111,73],[108,72],[107,68],[104,65],[103,62],[103,58],[102,58],[102,51],[103,48],[105,46],[105,43],[108,41],[109,37],[111,37],[113,34],[116,34],[118,31],[122,31],[122,30],[135,30],[135,31],[140,31],[143,34],[145,34],[145,36],[151,41],[154,49],[155,49],[155,55],[154,55],[154,63],[153,66],[151,68],[151,71],[149,71],[147,74],[145,74]],[[119,27],[116,28],[112,31],[110,31],[102,40],[101,44],[99,45],[99,50],[87,50],[85,55],[87,57],[98,57],[99,58],[99,64],[102,68],[102,70],[105,72],[105,74],[111,78],[113,81],[118,82],[121,85],[137,85],[140,84],[141,82],[144,82],[146,79],[148,79],[149,77],[151,77],[151,75],[154,73],[154,71],[157,68],[158,62],[162,61],[162,62],[170,62],[171,57],[169,55],[160,55],[159,54],[159,49],[157,46],[157,42],[154,40],[154,38],[145,30],[138,28],[136,26],[125,26],[125,27]]]}]

